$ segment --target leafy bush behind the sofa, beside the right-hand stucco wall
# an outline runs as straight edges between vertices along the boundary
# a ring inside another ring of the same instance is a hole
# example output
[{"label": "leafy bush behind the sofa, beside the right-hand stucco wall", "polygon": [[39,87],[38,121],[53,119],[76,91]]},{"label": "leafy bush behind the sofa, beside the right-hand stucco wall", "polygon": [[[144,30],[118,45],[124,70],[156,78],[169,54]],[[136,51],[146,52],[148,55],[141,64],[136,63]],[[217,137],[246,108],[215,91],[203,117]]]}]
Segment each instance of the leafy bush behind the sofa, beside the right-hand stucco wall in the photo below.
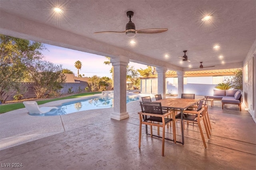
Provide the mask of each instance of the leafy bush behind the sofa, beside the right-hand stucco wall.
[{"label": "leafy bush behind the sofa, beside the right-hand stucco wall", "polygon": [[243,91],[243,70],[236,70],[236,75],[232,78],[226,78],[224,81],[232,84],[232,88],[235,90]]}]

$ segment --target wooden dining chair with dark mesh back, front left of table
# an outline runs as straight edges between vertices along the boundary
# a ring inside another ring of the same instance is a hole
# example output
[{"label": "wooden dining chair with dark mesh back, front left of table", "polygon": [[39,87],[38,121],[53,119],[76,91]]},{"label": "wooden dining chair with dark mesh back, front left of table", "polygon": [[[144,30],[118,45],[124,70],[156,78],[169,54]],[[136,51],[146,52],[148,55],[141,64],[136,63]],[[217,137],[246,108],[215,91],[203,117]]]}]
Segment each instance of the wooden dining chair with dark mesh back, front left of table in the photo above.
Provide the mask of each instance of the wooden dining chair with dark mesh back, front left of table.
[{"label": "wooden dining chair with dark mesh back, front left of table", "polygon": [[[165,126],[173,122],[172,135],[176,143],[176,126],[174,111],[163,113],[160,102],[140,102],[142,111],[138,112],[140,117],[139,148],[141,143],[142,124],[150,125],[150,136],[153,137],[152,126],[162,127],[162,156],[164,156]],[[168,118],[173,114],[173,119]],[[160,137],[160,136],[159,136]]]}]

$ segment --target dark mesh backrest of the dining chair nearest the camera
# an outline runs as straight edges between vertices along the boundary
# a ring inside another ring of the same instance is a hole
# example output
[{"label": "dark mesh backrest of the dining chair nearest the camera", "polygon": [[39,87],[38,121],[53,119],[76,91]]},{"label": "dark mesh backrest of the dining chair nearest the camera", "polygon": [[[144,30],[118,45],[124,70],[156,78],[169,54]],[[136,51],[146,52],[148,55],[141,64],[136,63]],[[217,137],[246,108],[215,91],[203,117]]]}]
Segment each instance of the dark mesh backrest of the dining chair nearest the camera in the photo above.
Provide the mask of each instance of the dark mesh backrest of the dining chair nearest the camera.
[{"label": "dark mesh backrest of the dining chair nearest the camera", "polygon": [[162,115],[162,106],[160,102],[140,102],[141,112]]}]

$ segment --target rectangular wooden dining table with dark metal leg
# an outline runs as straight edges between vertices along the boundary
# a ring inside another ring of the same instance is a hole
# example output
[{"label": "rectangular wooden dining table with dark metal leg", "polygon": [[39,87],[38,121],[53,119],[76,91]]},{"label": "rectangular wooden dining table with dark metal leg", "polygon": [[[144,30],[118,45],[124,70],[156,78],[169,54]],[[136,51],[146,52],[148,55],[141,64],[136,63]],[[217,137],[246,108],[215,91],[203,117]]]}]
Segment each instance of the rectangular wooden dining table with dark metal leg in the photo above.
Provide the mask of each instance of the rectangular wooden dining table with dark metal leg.
[{"label": "rectangular wooden dining table with dark metal leg", "polygon": [[[178,109],[181,114],[181,122],[183,122],[183,111],[193,104],[199,102],[201,99],[184,99],[184,98],[166,98],[161,100],[156,100],[155,102],[161,102],[162,107],[167,107],[168,109]],[[184,145],[184,129],[183,123],[181,124],[181,134],[182,134],[182,142],[177,141],[178,143],[182,143]]]}]

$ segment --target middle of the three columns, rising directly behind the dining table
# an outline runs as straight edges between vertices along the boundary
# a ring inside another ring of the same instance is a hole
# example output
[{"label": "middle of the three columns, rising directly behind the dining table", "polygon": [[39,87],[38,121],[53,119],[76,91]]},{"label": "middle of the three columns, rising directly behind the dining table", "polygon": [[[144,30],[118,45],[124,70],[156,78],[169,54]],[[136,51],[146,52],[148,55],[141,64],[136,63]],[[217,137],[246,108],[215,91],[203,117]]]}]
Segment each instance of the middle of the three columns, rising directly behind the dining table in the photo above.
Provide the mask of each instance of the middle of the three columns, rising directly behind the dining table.
[{"label": "middle of the three columns, rising directly behind the dining table", "polygon": [[162,98],[166,97],[166,76],[165,73],[167,71],[166,67],[156,67],[157,71],[157,91],[158,94],[162,95]]}]

